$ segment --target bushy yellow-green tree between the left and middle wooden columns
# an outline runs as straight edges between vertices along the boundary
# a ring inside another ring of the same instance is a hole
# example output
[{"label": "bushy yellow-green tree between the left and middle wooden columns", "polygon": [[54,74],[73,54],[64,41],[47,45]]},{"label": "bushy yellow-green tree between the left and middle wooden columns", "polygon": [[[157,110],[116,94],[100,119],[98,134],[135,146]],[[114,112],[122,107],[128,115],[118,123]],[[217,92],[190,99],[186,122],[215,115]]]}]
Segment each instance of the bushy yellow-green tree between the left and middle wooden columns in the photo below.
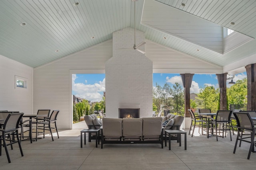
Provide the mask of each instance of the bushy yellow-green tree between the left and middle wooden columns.
[{"label": "bushy yellow-green tree between the left and middle wooden columns", "polygon": [[213,86],[204,86],[196,97],[198,107],[216,112],[219,105],[219,96],[219,89],[215,89]]}]

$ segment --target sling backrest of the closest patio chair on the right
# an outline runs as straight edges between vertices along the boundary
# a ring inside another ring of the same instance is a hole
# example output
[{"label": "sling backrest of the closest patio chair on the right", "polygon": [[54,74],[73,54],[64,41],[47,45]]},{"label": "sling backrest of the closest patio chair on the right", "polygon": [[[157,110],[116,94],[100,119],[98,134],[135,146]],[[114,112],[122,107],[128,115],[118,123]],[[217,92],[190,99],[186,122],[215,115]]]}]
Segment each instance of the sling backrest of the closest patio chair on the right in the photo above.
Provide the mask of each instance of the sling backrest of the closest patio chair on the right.
[{"label": "sling backrest of the closest patio chair on the right", "polygon": [[234,116],[236,117],[238,128],[246,130],[252,130],[254,128],[252,118],[247,111],[234,112]]}]

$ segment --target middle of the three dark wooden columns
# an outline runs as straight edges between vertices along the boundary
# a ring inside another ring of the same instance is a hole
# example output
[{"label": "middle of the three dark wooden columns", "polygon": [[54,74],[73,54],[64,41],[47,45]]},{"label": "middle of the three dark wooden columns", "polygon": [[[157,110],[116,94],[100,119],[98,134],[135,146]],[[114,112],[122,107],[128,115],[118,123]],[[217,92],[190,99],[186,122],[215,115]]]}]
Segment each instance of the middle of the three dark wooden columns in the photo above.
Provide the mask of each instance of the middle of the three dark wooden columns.
[{"label": "middle of the three dark wooden columns", "polygon": [[227,75],[228,73],[216,74],[220,88],[220,110],[227,110]]}]

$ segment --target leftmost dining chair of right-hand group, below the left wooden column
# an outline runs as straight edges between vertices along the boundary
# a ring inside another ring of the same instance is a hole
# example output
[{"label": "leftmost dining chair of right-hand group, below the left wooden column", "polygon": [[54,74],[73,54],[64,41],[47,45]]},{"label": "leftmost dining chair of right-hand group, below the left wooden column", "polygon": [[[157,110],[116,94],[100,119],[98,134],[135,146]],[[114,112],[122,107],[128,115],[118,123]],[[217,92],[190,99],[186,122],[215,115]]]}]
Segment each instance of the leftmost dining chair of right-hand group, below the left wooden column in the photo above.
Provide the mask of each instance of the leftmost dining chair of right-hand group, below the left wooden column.
[{"label": "leftmost dining chair of right-hand group, below the left wooden column", "polygon": [[[190,129],[189,129],[188,135],[190,135],[190,131],[191,131],[192,126],[193,126],[193,131],[192,131],[191,137],[193,137],[195,127],[199,127],[198,133],[200,132],[200,127],[201,127],[202,128],[202,135],[204,135],[203,127],[204,127],[204,123],[205,124],[207,123],[207,120],[206,120],[207,117],[195,116],[195,114],[192,111],[192,109],[188,109],[188,112],[189,112],[190,118],[191,118],[191,125],[190,125]],[[193,123],[194,123],[194,125],[193,125]]]}]

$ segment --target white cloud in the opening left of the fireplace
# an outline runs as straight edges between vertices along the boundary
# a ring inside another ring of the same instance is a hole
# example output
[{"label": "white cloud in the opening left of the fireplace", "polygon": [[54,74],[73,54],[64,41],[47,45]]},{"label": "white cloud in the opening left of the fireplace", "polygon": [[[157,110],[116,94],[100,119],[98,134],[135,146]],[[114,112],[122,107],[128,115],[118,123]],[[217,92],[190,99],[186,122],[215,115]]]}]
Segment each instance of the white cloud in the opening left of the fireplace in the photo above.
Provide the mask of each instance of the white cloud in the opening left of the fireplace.
[{"label": "white cloud in the opening left of the fireplace", "polygon": [[74,95],[92,102],[100,102],[102,94],[105,92],[105,78],[94,84],[75,83],[76,74],[72,75],[72,91]]}]

